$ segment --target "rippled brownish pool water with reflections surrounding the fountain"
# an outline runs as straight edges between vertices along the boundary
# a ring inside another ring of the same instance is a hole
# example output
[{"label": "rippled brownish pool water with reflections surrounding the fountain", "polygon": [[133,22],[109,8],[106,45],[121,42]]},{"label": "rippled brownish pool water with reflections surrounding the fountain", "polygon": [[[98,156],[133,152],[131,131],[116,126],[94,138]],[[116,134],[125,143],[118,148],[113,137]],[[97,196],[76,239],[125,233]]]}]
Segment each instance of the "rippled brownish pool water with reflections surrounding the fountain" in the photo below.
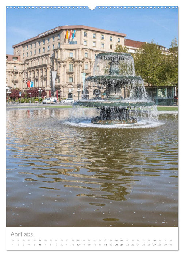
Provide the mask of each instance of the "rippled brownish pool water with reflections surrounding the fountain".
[{"label": "rippled brownish pool water with reflections surrounding the fountain", "polygon": [[177,226],[177,114],[70,125],[96,111],[7,110],[7,227]]}]

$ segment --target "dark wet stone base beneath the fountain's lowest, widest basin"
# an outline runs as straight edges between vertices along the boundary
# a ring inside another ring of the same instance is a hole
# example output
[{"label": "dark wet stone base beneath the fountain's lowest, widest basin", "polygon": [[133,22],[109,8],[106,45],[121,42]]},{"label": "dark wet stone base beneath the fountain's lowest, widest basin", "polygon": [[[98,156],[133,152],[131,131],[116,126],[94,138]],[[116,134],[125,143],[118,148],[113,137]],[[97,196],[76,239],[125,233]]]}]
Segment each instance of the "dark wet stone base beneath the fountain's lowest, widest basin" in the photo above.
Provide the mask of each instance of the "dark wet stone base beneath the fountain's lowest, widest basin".
[{"label": "dark wet stone base beneath the fountain's lowest, widest basin", "polygon": [[93,124],[134,124],[137,119],[129,115],[129,107],[103,106],[100,115],[91,119]]}]

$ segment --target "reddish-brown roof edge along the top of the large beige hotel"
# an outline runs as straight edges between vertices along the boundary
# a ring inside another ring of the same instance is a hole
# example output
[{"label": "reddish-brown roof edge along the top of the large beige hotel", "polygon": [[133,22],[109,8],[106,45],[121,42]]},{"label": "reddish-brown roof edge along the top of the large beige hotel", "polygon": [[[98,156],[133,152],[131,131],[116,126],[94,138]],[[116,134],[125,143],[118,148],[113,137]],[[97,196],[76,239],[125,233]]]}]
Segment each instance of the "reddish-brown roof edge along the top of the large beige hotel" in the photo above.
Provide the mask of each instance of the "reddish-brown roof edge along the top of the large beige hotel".
[{"label": "reddish-brown roof edge along the top of the large beige hotel", "polygon": [[[119,33],[119,32],[115,32],[115,31],[111,31],[111,30],[105,30],[105,29],[98,29],[98,28],[96,28],[96,27],[89,27],[89,26],[84,26],[84,25],[68,25],[68,26],[58,26],[58,27],[55,27],[54,29],[51,29],[51,30],[47,30],[47,31],[45,31],[45,32],[43,32],[43,33],[40,33],[39,35],[42,35],[42,34],[45,34],[45,35],[47,35],[47,34],[50,34],[50,33],[47,33],[47,32],[50,32],[51,31],[51,33],[54,33],[54,32],[56,32],[56,31],[60,31],[60,30],[70,30],[70,29],[84,29],[84,30],[91,30],[91,31],[96,31],[96,32],[100,32],[100,33],[107,33],[107,34],[112,34],[112,35],[118,35],[118,36],[121,36],[121,37],[126,37],[126,34],[123,34],[123,33]],[[17,47],[17,46],[20,46],[20,45],[22,45],[22,44],[26,44],[26,43],[28,43],[28,42],[31,42],[31,41],[33,41],[33,40],[35,40],[35,39],[38,39],[38,38],[40,38],[40,36],[39,35],[37,35],[37,36],[35,36],[35,37],[32,37],[32,38],[30,38],[30,39],[27,39],[27,40],[25,40],[25,41],[23,41],[23,42],[20,42],[20,43],[18,43],[18,44],[15,44],[15,45],[13,45],[12,47],[14,48],[14,47]]]}]

